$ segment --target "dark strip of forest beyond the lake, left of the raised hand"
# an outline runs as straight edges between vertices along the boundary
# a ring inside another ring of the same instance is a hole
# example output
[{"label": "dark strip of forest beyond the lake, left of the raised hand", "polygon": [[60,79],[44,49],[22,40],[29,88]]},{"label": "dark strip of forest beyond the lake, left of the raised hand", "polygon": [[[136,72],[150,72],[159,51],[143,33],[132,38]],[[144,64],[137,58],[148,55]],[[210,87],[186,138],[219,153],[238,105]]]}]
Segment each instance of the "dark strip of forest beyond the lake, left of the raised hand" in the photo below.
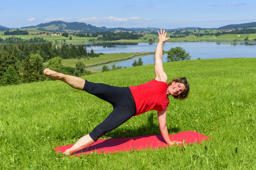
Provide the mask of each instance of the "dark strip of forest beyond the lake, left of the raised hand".
[{"label": "dark strip of forest beyond the lake, left of the raised hand", "polygon": [[138,40],[143,37],[143,35],[137,35],[134,33],[102,33],[102,37],[97,38],[97,40]]}]

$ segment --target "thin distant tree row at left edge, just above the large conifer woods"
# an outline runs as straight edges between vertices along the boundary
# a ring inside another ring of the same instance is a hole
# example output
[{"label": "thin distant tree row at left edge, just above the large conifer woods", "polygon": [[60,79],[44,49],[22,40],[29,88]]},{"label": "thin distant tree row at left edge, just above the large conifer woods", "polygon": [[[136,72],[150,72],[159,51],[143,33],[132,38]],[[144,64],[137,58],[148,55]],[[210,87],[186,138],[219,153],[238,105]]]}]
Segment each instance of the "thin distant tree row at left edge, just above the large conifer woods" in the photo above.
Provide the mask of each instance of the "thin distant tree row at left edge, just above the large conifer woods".
[{"label": "thin distant tree row at left edge, just above the large conifer woods", "polygon": [[46,40],[43,40],[43,38],[31,38],[29,40],[25,40],[25,39],[22,39],[22,38],[14,38],[14,37],[9,37],[9,38],[6,38],[6,39],[0,38],[0,44],[42,43],[42,42],[46,42]]}]

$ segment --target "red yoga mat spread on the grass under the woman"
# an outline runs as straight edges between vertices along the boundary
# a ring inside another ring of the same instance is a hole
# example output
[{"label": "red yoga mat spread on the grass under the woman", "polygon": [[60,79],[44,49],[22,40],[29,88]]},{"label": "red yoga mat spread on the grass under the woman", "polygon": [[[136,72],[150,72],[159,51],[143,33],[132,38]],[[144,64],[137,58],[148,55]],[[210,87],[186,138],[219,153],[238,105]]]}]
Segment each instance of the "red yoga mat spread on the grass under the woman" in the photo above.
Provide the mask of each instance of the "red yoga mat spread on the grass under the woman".
[{"label": "red yoga mat spread on the grass under the woman", "polygon": [[[186,145],[193,143],[201,143],[204,140],[209,140],[210,137],[202,135],[194,131],[180,132],[174,135],[169,135],[171,141],[185,141]],[[60,147],[55,147],[56,152],[65,152],[66,149],[69,149],[73,145],[65,145]],[[99,154],[110,154],[114,152],[129,152],[131,150],[140,150],[140,149],[156,149],[164,148],[168,145],[164,141],[164,138],[161,135],[146,135],[140,137],[125,137],[125,138],[116,138],[116,139],[107,139],[107,140],[97,140],[90,147],[81,149],[78,152],[73,153],[72,155],[79,156],[80,154],[92,154],[97,152]],[[181,145],[182,146],[182,145]]]}]

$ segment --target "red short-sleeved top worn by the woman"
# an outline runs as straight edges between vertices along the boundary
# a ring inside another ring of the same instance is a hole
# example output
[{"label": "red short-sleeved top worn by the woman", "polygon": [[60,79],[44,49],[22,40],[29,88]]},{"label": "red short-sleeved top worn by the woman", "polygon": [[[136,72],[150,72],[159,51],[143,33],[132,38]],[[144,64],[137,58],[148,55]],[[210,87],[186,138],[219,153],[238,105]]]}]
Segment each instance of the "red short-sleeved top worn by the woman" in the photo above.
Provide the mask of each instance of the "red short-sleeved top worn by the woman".
[{"label": "red short-sleeved top worn by the woman", "polygon": [[139,115],[147,111],[164,111],[169,105],[166,96],[168,84],[163,81],[153,79],[139,86],[129,86],[135,101],[137,113]]}]

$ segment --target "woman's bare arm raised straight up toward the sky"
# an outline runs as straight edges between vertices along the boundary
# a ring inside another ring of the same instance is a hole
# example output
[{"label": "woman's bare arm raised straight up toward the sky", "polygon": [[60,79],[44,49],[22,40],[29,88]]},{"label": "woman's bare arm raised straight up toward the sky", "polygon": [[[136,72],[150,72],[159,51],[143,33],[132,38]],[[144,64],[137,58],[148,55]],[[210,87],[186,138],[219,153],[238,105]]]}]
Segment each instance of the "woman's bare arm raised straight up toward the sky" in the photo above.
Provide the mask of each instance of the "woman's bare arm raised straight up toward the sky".
[{"label": "woman's bare arm raised straight up toward the sky", "polygon": [[[158,31],[159,33],[159,31]],[[166,38],[167,32],[165,30],[160,30],[159,33],[159,42],[156,47],[156,53],[155,53],[155,74],[156,74],[156,80],[158,81],[167,81],[166,73],[164,72],[162,57],[163,57],[163,45],[166,40],[169,40],[170,38]]]}]

